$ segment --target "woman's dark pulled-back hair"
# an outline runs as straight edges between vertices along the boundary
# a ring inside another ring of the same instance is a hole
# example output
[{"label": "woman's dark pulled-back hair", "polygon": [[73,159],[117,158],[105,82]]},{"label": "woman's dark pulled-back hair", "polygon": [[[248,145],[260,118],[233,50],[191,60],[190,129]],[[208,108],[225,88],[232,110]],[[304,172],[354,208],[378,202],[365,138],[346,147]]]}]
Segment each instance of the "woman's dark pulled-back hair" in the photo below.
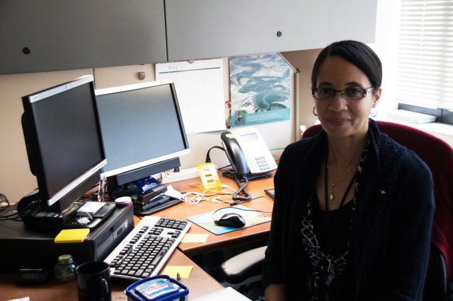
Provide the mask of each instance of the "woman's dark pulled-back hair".
[{"label": "woman's dark pulled-back hair", "polygon": [[316,88],[319,68],[328,57],[342,57],[365,73],[374,90],[381,87],[382,63],[377,54],[362,42],[345,40],[333,42],[321,50],[311,71],[312,89]]}]

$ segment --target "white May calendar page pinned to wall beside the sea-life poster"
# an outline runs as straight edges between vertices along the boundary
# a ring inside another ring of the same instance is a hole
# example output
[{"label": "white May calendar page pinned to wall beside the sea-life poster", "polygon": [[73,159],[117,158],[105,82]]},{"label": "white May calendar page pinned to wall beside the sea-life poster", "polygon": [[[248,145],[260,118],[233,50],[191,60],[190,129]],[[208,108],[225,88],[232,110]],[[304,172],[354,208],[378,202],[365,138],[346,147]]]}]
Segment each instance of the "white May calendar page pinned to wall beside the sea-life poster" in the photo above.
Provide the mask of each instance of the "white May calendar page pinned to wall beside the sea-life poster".
[{"label": "white May calendar page pinned to wall beside the sea-life poster", "polygon": [[156,81],[172,79],[186,134],[226,129],[223,59],[156,64]]}]

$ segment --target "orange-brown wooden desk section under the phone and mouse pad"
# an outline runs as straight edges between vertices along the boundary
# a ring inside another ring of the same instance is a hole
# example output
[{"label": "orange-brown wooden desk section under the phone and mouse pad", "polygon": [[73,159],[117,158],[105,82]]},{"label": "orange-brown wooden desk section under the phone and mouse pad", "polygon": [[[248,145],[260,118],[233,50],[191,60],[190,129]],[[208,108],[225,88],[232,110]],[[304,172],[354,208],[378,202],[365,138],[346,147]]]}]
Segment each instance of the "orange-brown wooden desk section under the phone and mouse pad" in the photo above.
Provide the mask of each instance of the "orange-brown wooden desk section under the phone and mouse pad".
[{"label": "orange-brown wooden desk section under the phone and mouse pad", "polygon": [[[229,187],[234,189],[237,188],[237,184],[233,179],[229,179],[228,177],[224,177],[219,172],[220,181],[222,184],[226,184]],[[170,183],[171,186],[184,193],[188,191],[197,191],[201,192],[202,189],[197,187],[190,187],[190,184],[200,182],[199,178],[195,179],[186,179],[180,182]],[[169,185],[170,185],[169,184]],[[269,196],[265,194],[264,189],[269,189],[274,187],[273,177],[263,178],[263,179],[255,179],[248,182],[248,187],[246,191],[251,194],[252,199],[258,196],[266,196],[266,198],[254,199],[253,201],[249,201],[246,203],[241,203],[242,206],[247,208],[256,209],[260,211],[272,211],[273,208],[273,201],[270,201]],[[202,201],[197,205],[190,205],[188,203],[180,203],[176,206],[171,208],[167,208],[163,211],[159,211],[155,213],[155,216],[161,216],[164,218],[176,218],[180,220],[187,220],[190,216],[196,216],[197,214],[206,213],[210,211],[215,211],[222,207],[228,207],[227,203],[212,203],[211,201]],[[264,215],[271,216],[271,213],[263,213]],[[134,217],[137,221],[139,218]],[[212,232],[205,230],[204,228],[200,227],[193,223],[190,227],[188,233],[208,233],[209,237],[205,243],[187,243],[181,242],[178,245],[178,249],[182,251],[187,256],[195,256],[199,254],[207,254],[210,252],[214,252],[220,249],[224,249],[226,247],[234,247],[240,244],[250,243],[250,242],[257,242],[260,240],[266,240],[268,238],[270,230],[270,223],[263,223],[260,225],[254,225],[252,227],[239,229],[233,232],[224,233],[222,235],[214,235]]]}]

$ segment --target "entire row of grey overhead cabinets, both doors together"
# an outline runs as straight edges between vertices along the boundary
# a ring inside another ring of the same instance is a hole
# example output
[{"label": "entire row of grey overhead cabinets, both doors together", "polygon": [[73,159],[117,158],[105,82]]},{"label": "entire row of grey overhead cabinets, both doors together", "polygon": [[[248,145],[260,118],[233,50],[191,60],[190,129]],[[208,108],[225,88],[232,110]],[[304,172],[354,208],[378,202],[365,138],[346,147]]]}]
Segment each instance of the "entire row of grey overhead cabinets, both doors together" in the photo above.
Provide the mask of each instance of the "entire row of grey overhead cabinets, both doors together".
[{"label": "entire row of grey overhead cabinets, both doors together", "polygon": [[377,0],[1,0],[0,74],[374,41]]}]

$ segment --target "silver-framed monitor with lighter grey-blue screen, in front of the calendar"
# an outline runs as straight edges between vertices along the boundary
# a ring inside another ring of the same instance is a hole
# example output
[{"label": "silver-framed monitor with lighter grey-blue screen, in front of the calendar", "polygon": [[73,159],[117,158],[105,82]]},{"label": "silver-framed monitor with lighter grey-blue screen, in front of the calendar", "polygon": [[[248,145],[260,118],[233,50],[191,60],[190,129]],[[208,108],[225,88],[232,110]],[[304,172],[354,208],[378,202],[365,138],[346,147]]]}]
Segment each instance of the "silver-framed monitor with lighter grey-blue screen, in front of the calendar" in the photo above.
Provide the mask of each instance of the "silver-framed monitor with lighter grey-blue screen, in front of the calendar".
[{"label": "silver-framed monitor with lighter grey-blue screen, in front of the calendar", "polygon": [[[115,187],[180,166],[179,156],[190,153],[172,81],[154,81],[96,89],[110,193]],[[133,186],[133,185],[132,185]],[[119,193],[119,192],[118,192]]]}]

